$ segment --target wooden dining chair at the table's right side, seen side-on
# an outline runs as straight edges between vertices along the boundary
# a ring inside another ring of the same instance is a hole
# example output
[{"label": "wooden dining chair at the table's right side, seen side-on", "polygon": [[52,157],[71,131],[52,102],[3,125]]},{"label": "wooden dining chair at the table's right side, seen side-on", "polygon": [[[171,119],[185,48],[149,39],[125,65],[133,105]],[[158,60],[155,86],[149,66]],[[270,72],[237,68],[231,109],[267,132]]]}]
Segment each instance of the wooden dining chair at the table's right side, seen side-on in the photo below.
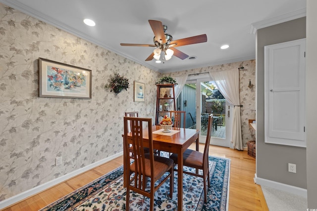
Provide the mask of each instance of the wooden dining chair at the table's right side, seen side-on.
[{"label": "wooden dining chair at the table's right side, seen side-on", "polygon": [[[183,153],[183,166],[191,167],[196,169],[196,173],[184,171],[183,173],[187,173],[194,176],[199,176],[204,179],[204,195],[205,202],[207,202],[207,184],[208,188],[210,188],[210,175],[209,175],[209,161],[208,161],[208,153],[209,153],[209,144],[211,139],[211,129],[212,129],[212,117],[213,115],[209,115],[208,117],[208,128],[207,128],[207,137],[204,152],[198,152],[195,150],[187,149]],[[177,154],[173,153],[170,156],[173,159],[174,164],[177,164]],[[202,169],[203,174],[199,174],[198,170]]]}]

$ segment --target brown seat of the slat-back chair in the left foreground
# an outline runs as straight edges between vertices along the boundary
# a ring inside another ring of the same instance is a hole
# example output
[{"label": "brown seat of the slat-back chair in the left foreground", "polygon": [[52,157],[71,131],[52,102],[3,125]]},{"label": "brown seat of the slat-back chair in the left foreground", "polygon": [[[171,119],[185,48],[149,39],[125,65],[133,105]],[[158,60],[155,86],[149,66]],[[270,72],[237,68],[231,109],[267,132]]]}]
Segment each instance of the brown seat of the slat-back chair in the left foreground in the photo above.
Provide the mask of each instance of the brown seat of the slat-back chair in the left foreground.
[{"label": "brown seat of the slat-back chair in the left foreground", "polygon": [[[145,155],[145,166],[150,167],[149,154]],[[154,156],[154,180],[158,180],[171,166],[173,166],[173,160],[160,156]],[[135,163],[131,165],[131,171],[135,172]],[[145,175],[151,177],[151,168],[145,169]]]}]

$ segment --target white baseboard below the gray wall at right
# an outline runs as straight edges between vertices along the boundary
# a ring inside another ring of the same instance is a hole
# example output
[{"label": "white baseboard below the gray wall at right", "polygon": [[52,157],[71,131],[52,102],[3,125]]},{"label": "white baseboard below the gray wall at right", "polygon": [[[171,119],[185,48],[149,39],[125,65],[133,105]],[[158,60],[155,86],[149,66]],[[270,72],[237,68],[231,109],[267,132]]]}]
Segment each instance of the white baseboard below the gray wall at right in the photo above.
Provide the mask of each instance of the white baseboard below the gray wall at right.
[{"label": "white baseboard below the gray wall at right", "polygon": [[281,190],[281,191],[285,191],[285,192],[292,193],[295,195],[299,195],[299,196],[302,196],[302,197],[307,199],[307,189],[299,188],[299,187],[292,186],[292,185],[287,185],[287,184],[280,183],[280,182],[275,182],[275,181],[268,180],[268,179],[263,179],[263,178],[257,177],[257,174],[255,174],[254,181],[258,185],[275,188],[277,190]]}]

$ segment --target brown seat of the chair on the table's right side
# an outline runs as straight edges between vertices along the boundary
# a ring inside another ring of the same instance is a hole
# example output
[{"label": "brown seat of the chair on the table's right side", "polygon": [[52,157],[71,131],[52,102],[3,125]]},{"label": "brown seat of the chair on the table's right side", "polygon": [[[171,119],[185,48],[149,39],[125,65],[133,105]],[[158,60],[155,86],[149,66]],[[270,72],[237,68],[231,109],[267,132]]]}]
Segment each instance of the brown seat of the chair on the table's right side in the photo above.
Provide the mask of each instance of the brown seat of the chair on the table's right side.
[{"label": "brown seat of the chair on the table's right side", "polygon": [[[173,159],[174,164],[177,164],[177,154],[172,154],[170,159]],[[192,168],[203,168],[204,154],[195,150],[187,149],[183,153],[183,165]]]}]

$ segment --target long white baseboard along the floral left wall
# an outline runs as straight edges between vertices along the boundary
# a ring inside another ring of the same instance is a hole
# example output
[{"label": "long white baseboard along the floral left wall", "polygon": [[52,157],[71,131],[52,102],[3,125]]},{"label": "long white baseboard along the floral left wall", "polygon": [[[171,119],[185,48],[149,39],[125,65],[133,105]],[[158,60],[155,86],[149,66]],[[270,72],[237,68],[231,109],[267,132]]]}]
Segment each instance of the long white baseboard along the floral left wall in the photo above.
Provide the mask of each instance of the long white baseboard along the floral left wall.
[{"label": "long white baseboard along the floral left wall", "polygon": [[46,182],[44,184],[41,184],[41,185],[36,186],[34,188],[31,188],[31,189],[29,189],[27,191],[19,193],[19,194],[15,195],[15,196],[12,196],[12,197],[8,198],[8,199],[5,199],[5,200],[0,202],[0,210],[3,209],[3,208],[6,208],[8,206],[11,206],[11,205],[13,205],[13,204],[15,204],[15,203],[17,203],[17,202],[19,202],[19,201],[21,201],[23,199],[26,199],[26,198],[28,198],[30,196],[33,196],[33,195],[35,195],[37,193],[40,193],[41,191],[44,191],[44,190],[46,190],[46,189],[48,189],[48,188],[50,188],[50,187],[52,187],[54,185],[57,185],[58,183],[61,183],[61,182],[65,181],[65,180],[67,180],[67,179],[69,179],[71,177],[74,177],[74,176],[76,176],[78,174],[81,174],[81,173],[87,171],[87,170],[90,170],[90,169],[98,167],[98,166],[100,166],[102,164],[105,164],[105,163],[107,163],[107,162],[109,162],[109,161],[111,161],[111,160],[113,160],[115,158],[118,158],[118,157],[122,156],[122,155],[123,155],[123,152],[117,153],[115,155],[111,155],[111,156],[109,156],[109,157],[107,157],[107,158],[105,158],[103,160],[97,161],[96,163],[90,164],[90,165],[88,165],[86,167],[83,167],[81,169],[74,170],[74,171],[72,171],[70,173],[67,173],[67,174],[65,174],[63,176],[60,176],[60,177],[58,177],[56,179],[53,179],[53,180],[48,181],[48,182]]}]

